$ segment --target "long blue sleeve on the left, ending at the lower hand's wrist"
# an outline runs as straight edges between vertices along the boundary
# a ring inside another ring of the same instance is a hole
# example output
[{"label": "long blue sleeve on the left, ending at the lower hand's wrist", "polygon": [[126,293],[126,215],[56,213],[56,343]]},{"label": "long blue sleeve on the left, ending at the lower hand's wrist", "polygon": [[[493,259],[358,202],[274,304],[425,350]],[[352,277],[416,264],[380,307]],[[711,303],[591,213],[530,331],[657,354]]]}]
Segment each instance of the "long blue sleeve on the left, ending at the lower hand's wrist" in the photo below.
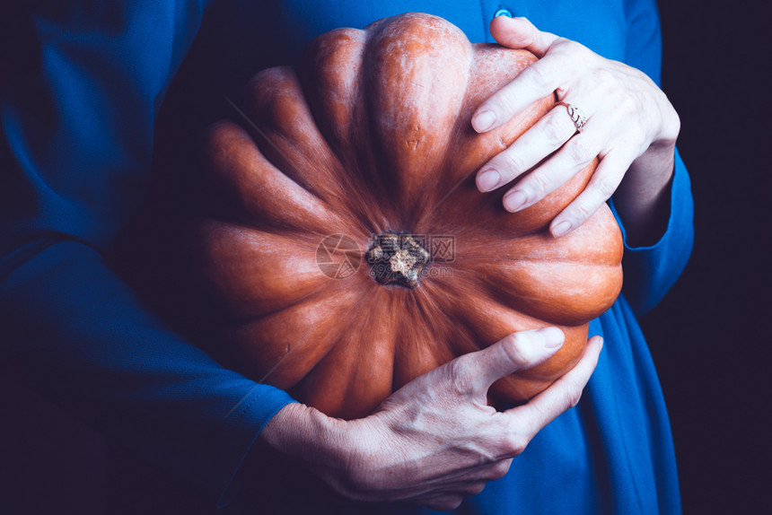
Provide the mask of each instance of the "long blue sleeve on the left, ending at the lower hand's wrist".
[{"label": "long blue sleeve on the left, ending at the lower hand's wrist", "polygon": [[205,6],[34,5],[0,100],[0,349],[214,505],[292,399],[173,334],[103,258],[145,194],[154,118]]}]

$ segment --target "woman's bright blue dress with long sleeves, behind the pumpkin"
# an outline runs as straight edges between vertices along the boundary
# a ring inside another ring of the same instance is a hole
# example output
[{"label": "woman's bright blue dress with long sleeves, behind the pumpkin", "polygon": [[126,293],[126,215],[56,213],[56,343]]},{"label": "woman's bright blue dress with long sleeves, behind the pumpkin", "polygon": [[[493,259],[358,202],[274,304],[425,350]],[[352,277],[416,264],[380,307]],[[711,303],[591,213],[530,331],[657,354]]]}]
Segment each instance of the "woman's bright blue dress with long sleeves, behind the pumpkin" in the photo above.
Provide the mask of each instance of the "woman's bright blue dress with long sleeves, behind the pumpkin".
[{"label": "woman's bright blue dress with long sleeves, behind the pumpkin", "polygon": [[[226,91],[260,67],[294,62],[324,31],[407,11],[440,15],[471,41],[493,42],[487,27],[502,8],[659,83],[654,0],[127,0],[24,13],[13,58],[3,63],[10,73],[0,99],[4,356],[50,397],[194,485],[213,506],[226,499],[238,505],[233,477],[291,397],[224,369],[171,331],[106,258],[146,194],[162,102],[189,94],[186,105]],[[169,89],[186,56],[186,83],[201,84],[198,92]],[[667,413],[636,315],[675,282],[692,240],[689,177],[677,155],[667,230],[652,247],[626,246],[623,294],[591,323],[591,335],[606,345],[579,406],[550,423],[507,476],[459,512],[680,512]],[[307,510],[323,511],[323,502]],[[392,511],[424,510],[379,508]]]}]

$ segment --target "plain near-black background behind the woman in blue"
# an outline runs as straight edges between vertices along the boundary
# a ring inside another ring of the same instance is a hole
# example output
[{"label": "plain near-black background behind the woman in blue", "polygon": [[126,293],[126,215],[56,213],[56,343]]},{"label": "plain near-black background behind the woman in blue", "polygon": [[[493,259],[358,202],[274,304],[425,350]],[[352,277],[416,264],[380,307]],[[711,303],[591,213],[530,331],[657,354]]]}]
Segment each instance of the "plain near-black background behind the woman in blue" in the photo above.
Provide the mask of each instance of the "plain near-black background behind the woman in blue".
[{"label": "plain near-black background behind the woman in blue", "polygon": [[[772,316],[772,27],[763,3],[660,4],[663,89],[680,113],[697,235],[680,282],[641,322],[671,413],[684,512],[755,513],[772,489],[762,326]],[[4,377],[0,412],[0,513],[104,511],[100,435]]]}]

